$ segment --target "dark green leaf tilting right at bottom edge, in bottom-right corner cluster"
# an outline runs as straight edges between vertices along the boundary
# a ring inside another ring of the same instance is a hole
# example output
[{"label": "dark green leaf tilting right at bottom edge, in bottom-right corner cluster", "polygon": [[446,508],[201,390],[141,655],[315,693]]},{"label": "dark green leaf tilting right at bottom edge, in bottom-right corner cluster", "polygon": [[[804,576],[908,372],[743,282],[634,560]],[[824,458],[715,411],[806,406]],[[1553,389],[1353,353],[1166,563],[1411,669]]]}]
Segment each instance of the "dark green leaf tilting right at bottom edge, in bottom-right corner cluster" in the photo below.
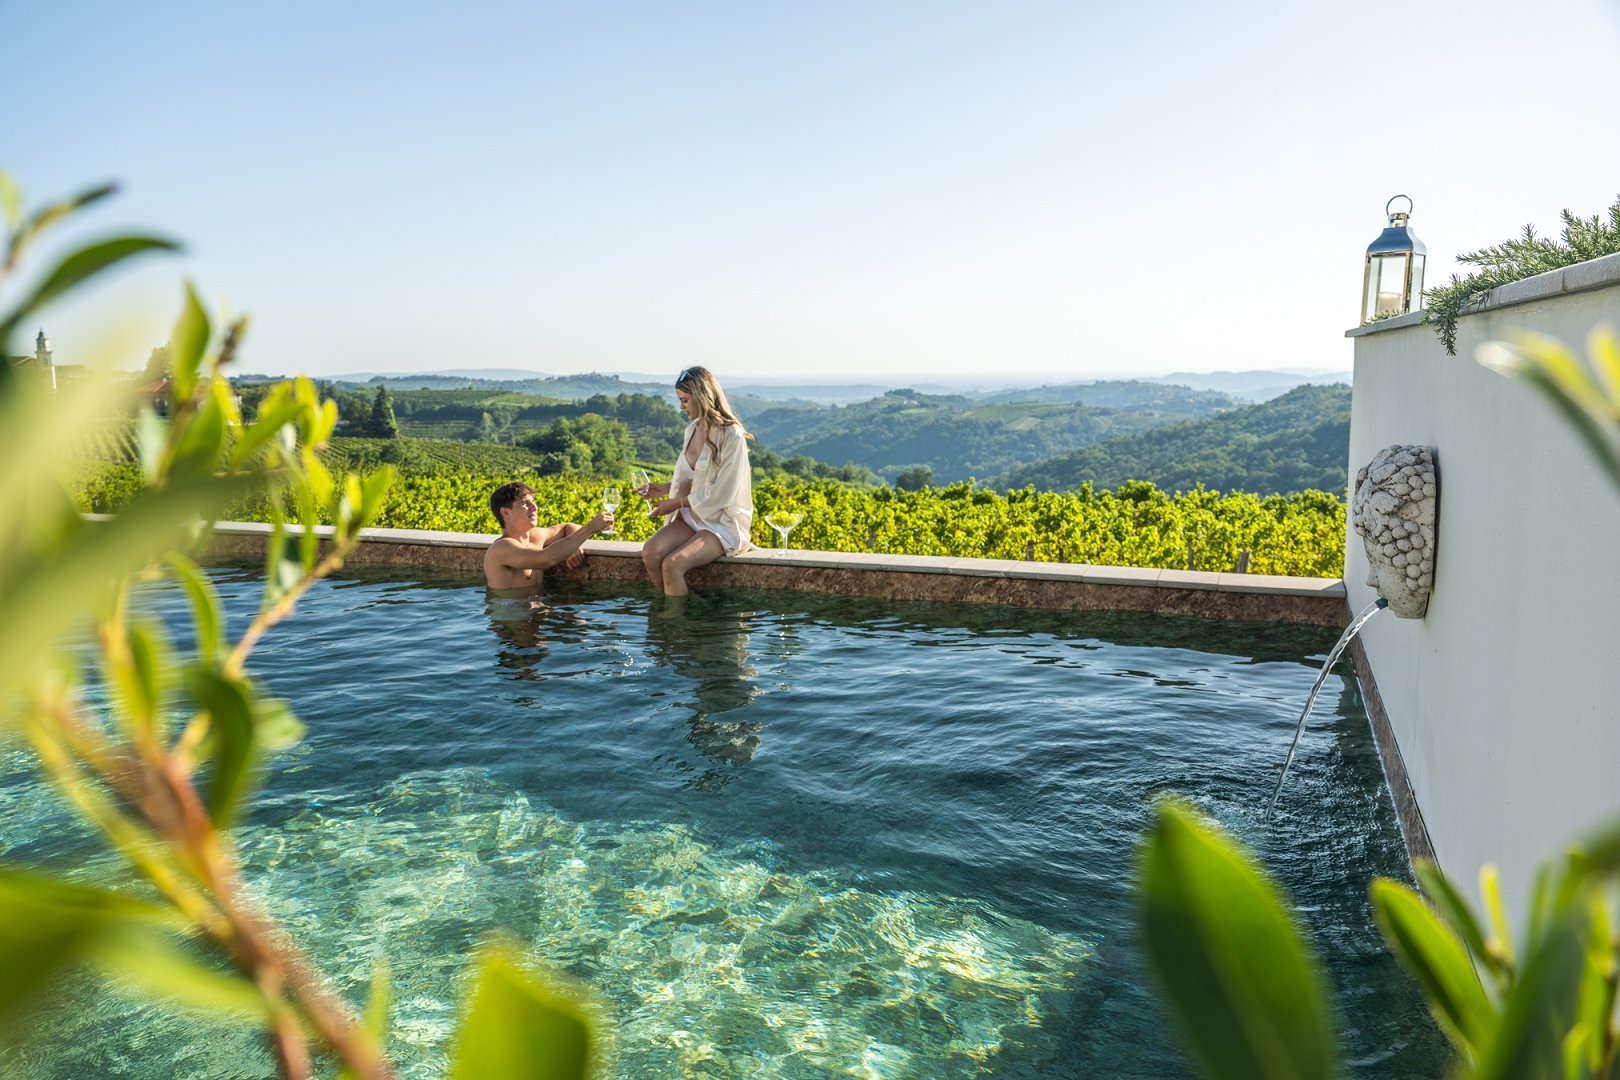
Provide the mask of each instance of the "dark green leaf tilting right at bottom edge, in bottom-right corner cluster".
[{"label": "dark green leaf tilting right at bottom edge, in bottom-right corner cluster", "polygon": [[1562,912],[1531,949],[1503,1002],[1497,1036],[1479,1062],[1479,1080],[1562,1075],[1565,1036],[1580,1010],[1583,921],[1578,908]]}]

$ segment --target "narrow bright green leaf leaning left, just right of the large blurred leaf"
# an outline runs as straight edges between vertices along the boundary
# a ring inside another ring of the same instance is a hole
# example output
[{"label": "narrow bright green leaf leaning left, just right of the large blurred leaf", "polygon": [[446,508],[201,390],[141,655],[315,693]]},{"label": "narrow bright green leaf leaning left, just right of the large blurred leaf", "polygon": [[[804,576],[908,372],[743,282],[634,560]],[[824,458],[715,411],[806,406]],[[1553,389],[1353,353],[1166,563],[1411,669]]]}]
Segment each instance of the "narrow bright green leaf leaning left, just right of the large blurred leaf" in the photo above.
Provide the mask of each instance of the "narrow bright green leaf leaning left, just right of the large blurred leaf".
[{"label": "narrow bright green leaf leaning left, just right of the large blurred leaf", "polygon": [[1476,1057],[1495,1031],[1497,1010],[1474,975],[1463,939],[1406,886],[1380,878],[1371,892],[1383,941],[1418,980],[1440,1030],[1464,1057]]}]

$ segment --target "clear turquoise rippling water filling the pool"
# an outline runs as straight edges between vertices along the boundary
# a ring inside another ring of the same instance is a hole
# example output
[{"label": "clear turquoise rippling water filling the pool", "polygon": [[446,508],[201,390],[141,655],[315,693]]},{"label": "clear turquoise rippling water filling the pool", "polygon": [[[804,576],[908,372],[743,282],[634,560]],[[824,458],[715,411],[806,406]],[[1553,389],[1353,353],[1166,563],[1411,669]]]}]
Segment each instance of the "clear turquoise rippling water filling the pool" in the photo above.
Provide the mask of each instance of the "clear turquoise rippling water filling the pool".
[{"label": "clear turquoise rippling water filling the pool", "polygon": [[[214,572],[240,627],[256,575]],[[1333,633],[1268,623],[350,576],[254,669],[309,737],[240,831],[262,904],[390,1049],[444,1075],[489,933],[588,986],[612,1077],[1178,1077],[1144,989],[1134,847],[1181,792],[1251,844],[1327,959],[1362,1077],[1445,1049],[1366,904],[1406,876]],[[175,614],[178,599],[147,602]],[[1335,691],[1336,687],[1336,691]],[[118,874],[0,763],[0,858]],[[264,1077],[251,1028],[87,980],[0,1075]]]}]

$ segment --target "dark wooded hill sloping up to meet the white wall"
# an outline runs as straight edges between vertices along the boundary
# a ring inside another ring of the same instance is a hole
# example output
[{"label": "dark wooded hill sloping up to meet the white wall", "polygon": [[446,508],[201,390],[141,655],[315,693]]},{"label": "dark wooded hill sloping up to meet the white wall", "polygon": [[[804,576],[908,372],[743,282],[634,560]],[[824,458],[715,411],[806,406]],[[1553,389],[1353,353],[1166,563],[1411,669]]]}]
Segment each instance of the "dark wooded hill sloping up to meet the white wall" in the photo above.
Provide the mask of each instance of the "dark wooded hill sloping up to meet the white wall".
[{"label": "dark wooded hill sloping up to meet the white wall", "polygon": [[1163,491],[1343,492],[1349,458],[1349,387],[1301,385],[1220,416],[1119,436],[1009,470],[998,487],[1071,491],[1132,479]]}]

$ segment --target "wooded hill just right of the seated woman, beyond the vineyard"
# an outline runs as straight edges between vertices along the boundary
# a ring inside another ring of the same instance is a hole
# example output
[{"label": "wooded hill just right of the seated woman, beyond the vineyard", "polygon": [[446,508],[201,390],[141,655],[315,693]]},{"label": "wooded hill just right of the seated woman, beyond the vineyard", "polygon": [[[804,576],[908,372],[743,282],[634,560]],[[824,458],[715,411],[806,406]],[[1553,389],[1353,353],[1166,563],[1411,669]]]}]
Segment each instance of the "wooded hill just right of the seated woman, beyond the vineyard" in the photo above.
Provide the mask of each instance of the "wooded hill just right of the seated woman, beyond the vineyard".
[{"label": "wooded hill just right of the seated woman, beyond the vineyard", "polygon": [[988,478],[1111,436],[1210,415],[1226,400],[1184,400],[1165,415],[1094,408],[1069,402],[980,403],[966,395],[889,390],[859,405],[773,408],[745,416],[748,429],[774,450],[821,461],[854,461],[893,479],[927,465],[935,483]]}]

